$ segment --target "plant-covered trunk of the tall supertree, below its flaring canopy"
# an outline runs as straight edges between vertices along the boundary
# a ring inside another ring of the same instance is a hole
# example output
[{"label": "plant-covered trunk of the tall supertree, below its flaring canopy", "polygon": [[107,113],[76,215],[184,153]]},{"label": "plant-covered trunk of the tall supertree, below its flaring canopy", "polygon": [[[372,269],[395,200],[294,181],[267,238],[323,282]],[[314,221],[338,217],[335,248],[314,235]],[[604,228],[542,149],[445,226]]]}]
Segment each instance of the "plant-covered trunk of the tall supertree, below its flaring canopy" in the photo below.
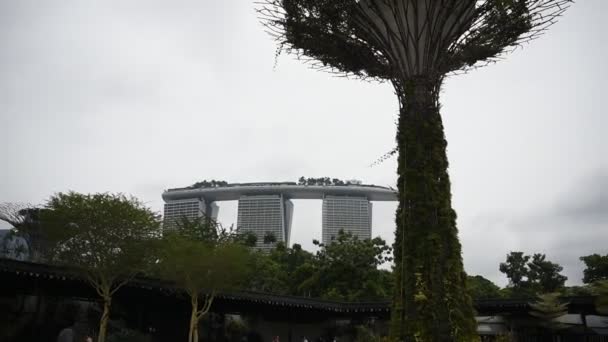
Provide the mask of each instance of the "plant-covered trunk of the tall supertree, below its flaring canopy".
[{"label": "plant-covered trunk of the tall supertree, below its flaring canopy", "polygon": [[391,335],[398,341],[476,338],[451,205],[440,86],[427,80],[395,83],[401,108]]}]

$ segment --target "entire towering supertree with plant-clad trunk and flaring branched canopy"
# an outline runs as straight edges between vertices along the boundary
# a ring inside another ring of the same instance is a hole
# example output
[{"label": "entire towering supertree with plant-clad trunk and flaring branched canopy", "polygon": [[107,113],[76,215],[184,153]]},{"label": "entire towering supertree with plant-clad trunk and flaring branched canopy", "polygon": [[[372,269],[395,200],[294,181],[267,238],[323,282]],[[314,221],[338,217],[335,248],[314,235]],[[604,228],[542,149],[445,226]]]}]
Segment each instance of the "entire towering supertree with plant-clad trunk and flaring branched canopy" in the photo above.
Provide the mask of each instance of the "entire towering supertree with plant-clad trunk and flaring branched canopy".
[{"label": "entire towering supertree with plant-clad trunk and flaring branched canopy", "polygon": [[570,2],[262,0],[258,12],[281,50],[319,69],[390,81],[399,98],[394,339],[475,339],[439,114],[443,79],[536,39]]}]

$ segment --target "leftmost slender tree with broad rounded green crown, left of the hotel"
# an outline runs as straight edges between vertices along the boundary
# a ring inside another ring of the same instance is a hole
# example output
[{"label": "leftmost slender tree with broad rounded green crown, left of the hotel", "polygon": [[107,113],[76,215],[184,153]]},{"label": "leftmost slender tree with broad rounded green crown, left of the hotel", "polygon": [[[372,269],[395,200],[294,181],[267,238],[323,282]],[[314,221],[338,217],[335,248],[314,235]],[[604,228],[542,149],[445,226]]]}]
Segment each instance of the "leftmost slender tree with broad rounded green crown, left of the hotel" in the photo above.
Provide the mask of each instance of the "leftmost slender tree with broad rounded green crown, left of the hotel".
[{"label": "leftmost slender tree with broad rounded green crown, left of the hotel", "polygon": [[98,342],[106,339],[112,296],[151,264],[150,241],[159,221],[150,209],[122,194],[58,193],[42,212],[57,242],[51,260],[76,268],[103,302]]}]

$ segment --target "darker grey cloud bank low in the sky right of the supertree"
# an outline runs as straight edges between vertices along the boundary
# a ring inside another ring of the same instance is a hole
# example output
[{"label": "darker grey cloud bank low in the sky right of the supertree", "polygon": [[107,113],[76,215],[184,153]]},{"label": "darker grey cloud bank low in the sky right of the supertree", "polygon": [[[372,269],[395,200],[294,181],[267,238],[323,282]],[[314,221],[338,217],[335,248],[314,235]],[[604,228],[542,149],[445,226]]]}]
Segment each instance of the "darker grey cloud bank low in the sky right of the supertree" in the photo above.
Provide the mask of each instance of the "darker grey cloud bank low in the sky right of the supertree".
[{"label": "darker grey cloud bank low in the sky right of the supertree", "polygon": [[[564,187],[567,191],[552,205],[523,213],[489,213],[465,222],[469,234],[461,234],[469,248],[466,260],[475,272],[504,284],[498,263],[509,251],[545,253],[564,267],[568,284],[580,284],[584,266],[578,258],[608,252],[607,181],[608,172],[600,169]],[[480,238],[486,245],[475,244]]]}]

